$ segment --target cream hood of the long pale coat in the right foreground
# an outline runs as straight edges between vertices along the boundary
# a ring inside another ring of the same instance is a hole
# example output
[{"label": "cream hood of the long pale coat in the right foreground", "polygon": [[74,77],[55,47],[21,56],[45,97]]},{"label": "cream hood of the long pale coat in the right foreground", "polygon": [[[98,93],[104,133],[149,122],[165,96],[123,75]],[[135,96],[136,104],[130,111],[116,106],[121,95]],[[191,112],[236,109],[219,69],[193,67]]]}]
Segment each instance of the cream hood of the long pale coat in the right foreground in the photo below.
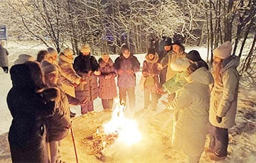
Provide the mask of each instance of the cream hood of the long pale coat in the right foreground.
[{"label": "cream hood of the long pale coat in the right foreground", "polygon": [[213,75],[206,69],[206,67],[196,69],[196,71],[189,76],[189,79],[205,85],[213,83]]}]

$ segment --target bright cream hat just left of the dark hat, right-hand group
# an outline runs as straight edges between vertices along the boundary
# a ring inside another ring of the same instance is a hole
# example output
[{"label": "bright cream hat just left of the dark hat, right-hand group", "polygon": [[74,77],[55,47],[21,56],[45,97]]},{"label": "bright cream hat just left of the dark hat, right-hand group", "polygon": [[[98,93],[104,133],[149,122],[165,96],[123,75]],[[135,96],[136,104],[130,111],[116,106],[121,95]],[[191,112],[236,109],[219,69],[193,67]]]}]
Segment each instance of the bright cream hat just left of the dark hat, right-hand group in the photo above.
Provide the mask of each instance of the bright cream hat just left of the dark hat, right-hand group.
[{"label": "bright cream hat just left of the dark hat, right-hand group", "polygon": [[178,58],[174,62],[171,62],[170,67],[174,72],[184,72],[190,65],[187,58]]}]

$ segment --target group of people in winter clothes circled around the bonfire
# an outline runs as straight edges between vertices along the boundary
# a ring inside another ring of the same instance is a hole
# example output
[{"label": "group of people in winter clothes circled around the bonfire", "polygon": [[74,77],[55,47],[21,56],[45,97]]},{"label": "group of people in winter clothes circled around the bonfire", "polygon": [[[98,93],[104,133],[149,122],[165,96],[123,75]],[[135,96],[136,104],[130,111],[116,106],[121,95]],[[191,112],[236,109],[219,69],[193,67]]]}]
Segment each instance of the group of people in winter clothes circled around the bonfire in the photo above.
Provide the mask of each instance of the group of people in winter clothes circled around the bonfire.
[{"label": "group of people in winter clothes circled around the bonfire", "polygon": [[[161,95],[168,94],[166,106],[174,110],[172,147],[182,149],[188,162],[198,162],[204,150],[210,159],[225,159],[228,128],[235,124],[239,81],[239,60],[231,55],[231,42],[214,50],[212,72],[199,52],[186,53],[181,41],[172,43],[167,37],[160,45],[161,50],[149,45],[142,64],[139,86],[144,90],[144,109],[156,110]],[[129,46],[122,45],[114,61],[107,53],[97,61],[90,52],[89,45],[82,45],[74,58],[68,47],[59,53],[48,47],[38,52],[36,61],[30,55],[19,55],[14,62],[10,69],[13,87],[7,97],[14,118],[9,131],[13,162],[58,162],[60,140],[72,128],[70,105],[80,106],[84,115],[94,110],[93,101],[99,96],[103,108],[111,109],[118,87],[119,102],[130,111],[136,108],[140,63]],[[26,127],[21,130],[21,126]],[[205,149],[207,133],[210,145]],[[27,147],[30,150],[24,152]]]}]

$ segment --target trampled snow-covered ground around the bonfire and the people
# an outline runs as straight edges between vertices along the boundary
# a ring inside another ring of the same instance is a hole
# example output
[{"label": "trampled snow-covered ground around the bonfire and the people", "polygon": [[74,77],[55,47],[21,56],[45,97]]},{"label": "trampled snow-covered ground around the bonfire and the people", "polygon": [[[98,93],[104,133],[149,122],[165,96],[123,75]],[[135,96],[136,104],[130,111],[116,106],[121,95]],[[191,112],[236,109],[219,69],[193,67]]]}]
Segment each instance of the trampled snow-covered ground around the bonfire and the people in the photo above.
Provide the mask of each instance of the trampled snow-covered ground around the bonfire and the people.
[{"label": "trampled snow-covered ground around the bonfire and the people", "polygon": [[[39,50],[46,49],[44,45],[37,42],[17,42],[9,41],[7,49],[9,55],[9,67],[14,60],[21,54],[33,55]],[[206,47],[186,47],[186,52],[190,50],[198,50],[201,57],[206,60]],[[144,55],[135,55],[142,65]],[[97,58],[100,56],[97,56]],[[114,60],[117,55],[111,55]],[[137,72],[137,84],[141,77],[141,72]],[[228,157],[220,162],[256,162],[256,88],[247,89],[242,80],[240,81],[240,92],[238,99],[238,114],[236,124],[230,129],[230,143],[228,146]],[[11,89],[11,79],[9,74],[5,74],[0,69],[0,162],[11,162],[7,133],[11,125],[11,114],[6,104],[6,95]],[[250,87],[250,86],[249,86]],[[142,133],[142,141],[134,146],[125,146],[122,143],[115,142],[113,145],[105,148],[104,154],[107,162],[185,162],[185,155],[182,152],[176,152],[171,149],[171,133],[172,133],[172,117],[171,111],[166,110],[161,100],[165,100],[166,96],[159,99],[157,111],[145,111],[143,92],[136,88],[136,113],[133,119],[137,120],[139,130]],[[95,112],[80,116],[80,108],[71,108],[78,114],[73,120],[73,128],[75,133],[75,142],[78,150],[80,162],[100,162],[94,155],[87,153],[86,147],[82,140],[95,132],[98,126],[110,119],[110,112],[102,111],[100,99],[94,101]],[[208,145],[208,137],[206,145]],[[63,140],[61,147],[62,157],[65,162],[75,162],[75,154],[73,150],[73,142],[71,136]],[[210,162],[206,154],[202,154],[200,162]]]}]

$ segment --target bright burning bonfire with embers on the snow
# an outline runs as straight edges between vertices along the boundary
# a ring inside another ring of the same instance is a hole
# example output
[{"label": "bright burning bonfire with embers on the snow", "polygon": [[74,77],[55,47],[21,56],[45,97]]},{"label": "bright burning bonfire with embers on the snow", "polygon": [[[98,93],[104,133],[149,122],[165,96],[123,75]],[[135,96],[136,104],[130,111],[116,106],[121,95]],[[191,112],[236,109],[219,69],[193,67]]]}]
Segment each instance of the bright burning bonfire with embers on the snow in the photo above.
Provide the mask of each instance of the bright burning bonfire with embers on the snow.
[{"label": "bright burning bonfire with embers on the snow", "polygon": [[94,154],[102,162],[107,161],[104,155],[105,147],[112,145],[115,140],[131,146],[142,139],[136,120],[125,118],[126,107],[124,104],[120,104],[116,99],[115,106],[112,111],[112,119],[102,126],[97,126],[95,132],[82,140],[87,147],[87,154]]}]

